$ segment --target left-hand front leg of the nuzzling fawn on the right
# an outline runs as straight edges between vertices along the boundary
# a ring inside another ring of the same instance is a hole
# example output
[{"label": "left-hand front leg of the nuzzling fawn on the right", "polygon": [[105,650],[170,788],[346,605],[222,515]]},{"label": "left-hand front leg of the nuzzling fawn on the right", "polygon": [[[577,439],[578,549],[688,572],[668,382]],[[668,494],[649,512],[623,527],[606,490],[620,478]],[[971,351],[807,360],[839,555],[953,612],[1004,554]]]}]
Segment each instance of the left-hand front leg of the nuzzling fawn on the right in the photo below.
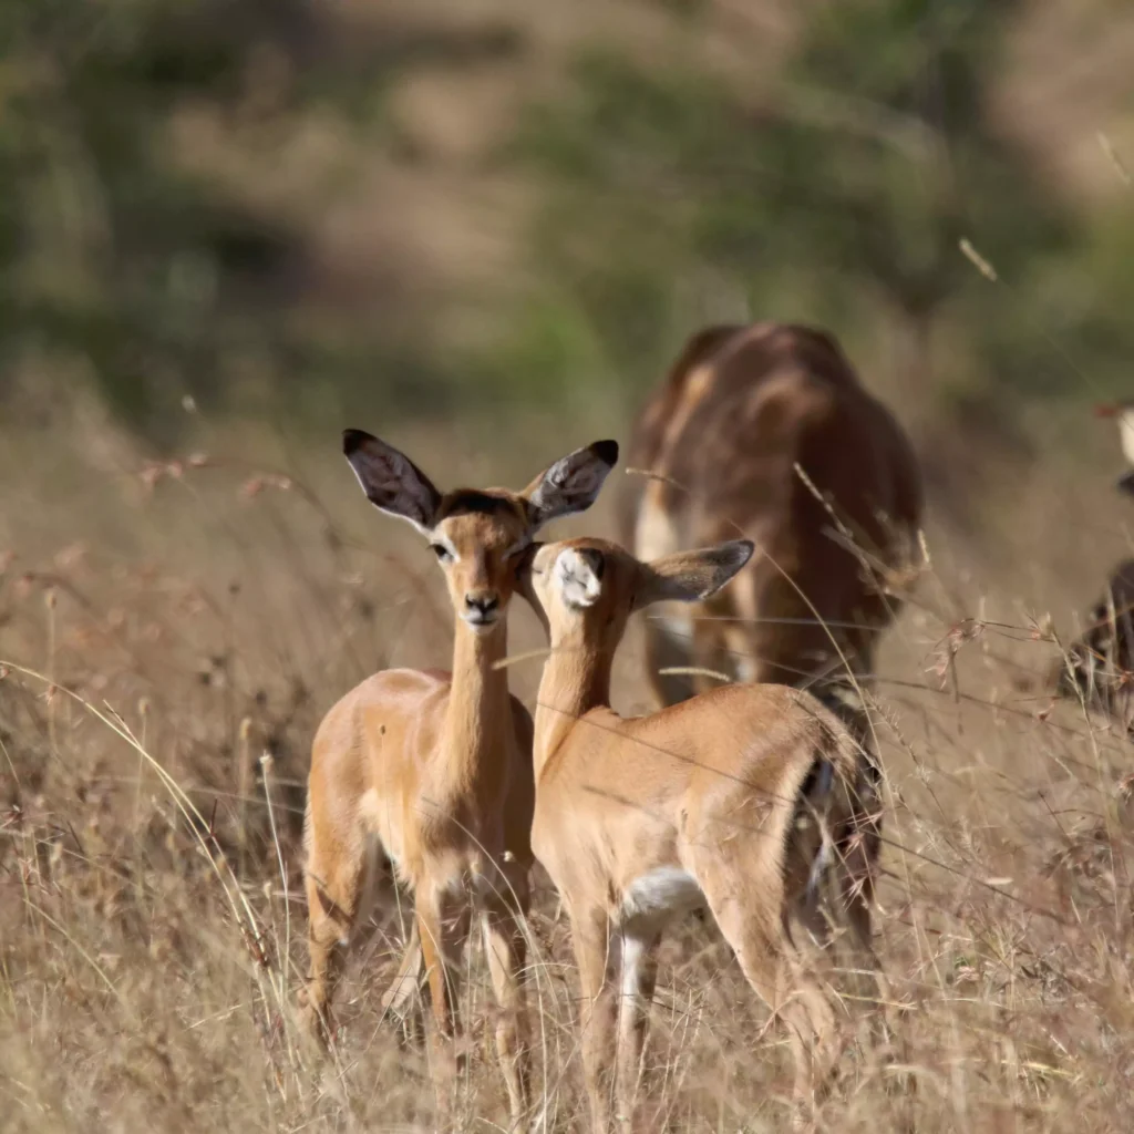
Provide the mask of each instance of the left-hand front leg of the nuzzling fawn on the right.
[{"label": "left-hand front leg of the nuzzling fawn on the right", "polygon": [[615,1060],[615,996],[610,980],[610,925],[601,909],[570,912],[572,941],[578,965],[582,998],[583,1074],[591,1102],[591,1129],[611,1128],[610,1074]]}]

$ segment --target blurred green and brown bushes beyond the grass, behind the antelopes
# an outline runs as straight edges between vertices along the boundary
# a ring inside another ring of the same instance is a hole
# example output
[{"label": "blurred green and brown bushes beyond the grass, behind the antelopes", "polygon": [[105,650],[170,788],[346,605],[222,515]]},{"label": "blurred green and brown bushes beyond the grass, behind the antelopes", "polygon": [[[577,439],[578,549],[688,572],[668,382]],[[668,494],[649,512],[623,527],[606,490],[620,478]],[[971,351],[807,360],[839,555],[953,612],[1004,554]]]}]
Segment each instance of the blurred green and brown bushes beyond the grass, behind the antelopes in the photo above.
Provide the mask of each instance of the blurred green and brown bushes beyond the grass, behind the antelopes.
[{"label": "blurred green and brown bushes beyond the grass, behind the antelopes", "polygon": [[[612,387],[636,400],[696,324],[748,313],[830,325],[926,406],[1125,380],[1131,197],[1065,193],[993,113],[1016,0],[811,5],[760,84],[704,49],[708,2],[653,12],[671,44],[653,59],[584,27],[555,82],[524,77],[547,58],[540,17],[502,10],[3,6],[9,414],[49,414],[79,382],[168,442],[185,395],[307,420]],[[456,76],[459,101],[462,76],[496,71],[502,136],[454,172],[399,92]],[[442,234],[466,186],[524,187],[503,226],[514,271],[477,276],[447,235],[425,254],[381,192],[390,171],[421,186],[434,169]],[[438,261],[446,279],[422,286]]]}]

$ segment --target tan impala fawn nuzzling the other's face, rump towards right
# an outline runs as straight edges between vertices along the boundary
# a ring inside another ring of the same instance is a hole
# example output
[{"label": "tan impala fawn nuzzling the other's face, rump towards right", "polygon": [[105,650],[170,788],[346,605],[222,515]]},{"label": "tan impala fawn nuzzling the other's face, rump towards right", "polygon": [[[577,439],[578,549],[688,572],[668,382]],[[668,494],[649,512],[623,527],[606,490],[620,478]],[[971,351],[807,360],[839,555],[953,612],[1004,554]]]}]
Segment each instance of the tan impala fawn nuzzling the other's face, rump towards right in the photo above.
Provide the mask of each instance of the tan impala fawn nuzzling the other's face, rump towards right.
[{"label": "tan impala fawn nuzzling the other's face, rump towards right", "polygon": [[570,917],[595,1131],[611,1125],[611,1093],[613,1114],[631,1123],[653,951],[694,907],[708,905],[748,983],[788,1024],[801,1102],[838,1056],[835,1009],[802,962],[822,959],[818,947],[843,923],[854,971],[877,991],[861,887],[868,769],[837,718],[781,685],[721,686],[636,719],[610,709],[611,661],[632,611],[708,598],[752,550],[742,540],[643,564],[606,541],[569,540],[535,549],[522,576],[551,640],[535,711],[532,847]]}]

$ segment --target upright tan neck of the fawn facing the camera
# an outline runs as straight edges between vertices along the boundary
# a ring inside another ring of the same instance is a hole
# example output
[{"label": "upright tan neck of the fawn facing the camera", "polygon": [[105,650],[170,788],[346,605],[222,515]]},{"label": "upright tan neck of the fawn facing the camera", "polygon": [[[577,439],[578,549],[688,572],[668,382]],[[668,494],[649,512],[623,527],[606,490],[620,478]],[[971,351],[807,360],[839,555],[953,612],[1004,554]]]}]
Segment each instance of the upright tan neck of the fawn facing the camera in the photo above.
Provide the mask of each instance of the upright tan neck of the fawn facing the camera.
[{"label": "upright tan neck of the fawn facing the camera", "polygon": [[464,782],[505,767],[513,728],[508,671],[497,668],[508,651],[508,624],[500,618],[477,634],[458,618],[454,634],[452,686],[443,726],[443,751],[454,778]]}]

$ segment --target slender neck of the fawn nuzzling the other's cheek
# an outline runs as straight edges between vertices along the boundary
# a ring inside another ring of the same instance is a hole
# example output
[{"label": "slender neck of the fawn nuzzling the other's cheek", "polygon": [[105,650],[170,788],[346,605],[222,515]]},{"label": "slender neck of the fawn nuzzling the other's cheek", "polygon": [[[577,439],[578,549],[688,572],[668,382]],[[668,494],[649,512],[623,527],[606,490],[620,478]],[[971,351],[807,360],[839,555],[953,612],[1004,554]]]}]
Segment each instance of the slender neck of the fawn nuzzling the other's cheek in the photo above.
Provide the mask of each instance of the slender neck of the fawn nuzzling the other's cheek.
[{"label": "slender neck of the fawn nuzzling the other's cheek", "polygon": [[575,728],[579,717],[610,704],[613,650],[583,634],[552,638],[535,705],[535,778]]}]

